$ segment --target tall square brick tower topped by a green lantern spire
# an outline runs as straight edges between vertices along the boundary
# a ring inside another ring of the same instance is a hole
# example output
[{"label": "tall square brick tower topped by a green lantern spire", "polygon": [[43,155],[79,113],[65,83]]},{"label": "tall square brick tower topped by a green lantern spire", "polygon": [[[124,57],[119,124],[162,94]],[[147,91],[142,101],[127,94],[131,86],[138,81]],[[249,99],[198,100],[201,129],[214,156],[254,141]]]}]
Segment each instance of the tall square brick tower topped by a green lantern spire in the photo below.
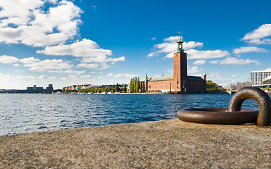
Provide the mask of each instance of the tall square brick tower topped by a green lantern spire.
[{"label": "tall square brick tower topped by a green lantern spire", "polygon": [[182,48],[182,37],[177,42],[177,52],[174,54],[174,75],[172,87],[175,92],[184,92],[187,89],[187,53]]}]

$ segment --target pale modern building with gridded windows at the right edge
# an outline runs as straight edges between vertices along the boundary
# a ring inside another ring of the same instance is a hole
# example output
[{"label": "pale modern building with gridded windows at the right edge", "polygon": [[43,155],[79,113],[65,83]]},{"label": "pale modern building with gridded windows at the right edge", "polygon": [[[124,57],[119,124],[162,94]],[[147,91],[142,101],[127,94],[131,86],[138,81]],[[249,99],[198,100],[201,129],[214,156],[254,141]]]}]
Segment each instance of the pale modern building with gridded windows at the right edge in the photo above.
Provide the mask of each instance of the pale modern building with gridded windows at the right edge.
[{"label": "pale modern building with gridded windows at the right edge", "polygon": [[271,87],[271,71],[251,71],[251,85],[260,88]]}]

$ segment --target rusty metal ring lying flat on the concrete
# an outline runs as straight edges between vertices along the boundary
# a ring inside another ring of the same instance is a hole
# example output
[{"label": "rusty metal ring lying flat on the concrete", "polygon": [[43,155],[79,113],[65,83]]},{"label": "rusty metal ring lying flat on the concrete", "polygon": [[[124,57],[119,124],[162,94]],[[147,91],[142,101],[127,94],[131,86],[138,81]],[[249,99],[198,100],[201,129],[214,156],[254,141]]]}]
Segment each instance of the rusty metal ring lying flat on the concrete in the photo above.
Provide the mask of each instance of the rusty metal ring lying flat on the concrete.
[{"label": "rusty metal ring lying flat on the concrete", "polygon": [[179,110],[177,117],[179,120],[191,123],[238,125],[255,123],[258,110],[242,109],[228,112],[228,108],[187,108]]}]

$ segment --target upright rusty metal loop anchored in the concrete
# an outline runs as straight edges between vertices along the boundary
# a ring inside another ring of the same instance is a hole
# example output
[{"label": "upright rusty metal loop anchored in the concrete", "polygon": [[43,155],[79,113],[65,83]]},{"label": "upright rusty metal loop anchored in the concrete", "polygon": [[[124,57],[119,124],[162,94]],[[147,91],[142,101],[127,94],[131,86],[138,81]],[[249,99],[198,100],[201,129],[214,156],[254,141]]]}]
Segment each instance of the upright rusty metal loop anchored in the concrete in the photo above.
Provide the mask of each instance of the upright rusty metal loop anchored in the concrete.
[{"label": "upright rusty metal loop anchored in the concrete", "polygon": [[240,111],[246,99],[253,99],[259,106],[259,115],[256,125],[267,126],[271,124],[271,100],[268,94],[258,87],[244,87],[232,96],[229,101],[229,112]]}]

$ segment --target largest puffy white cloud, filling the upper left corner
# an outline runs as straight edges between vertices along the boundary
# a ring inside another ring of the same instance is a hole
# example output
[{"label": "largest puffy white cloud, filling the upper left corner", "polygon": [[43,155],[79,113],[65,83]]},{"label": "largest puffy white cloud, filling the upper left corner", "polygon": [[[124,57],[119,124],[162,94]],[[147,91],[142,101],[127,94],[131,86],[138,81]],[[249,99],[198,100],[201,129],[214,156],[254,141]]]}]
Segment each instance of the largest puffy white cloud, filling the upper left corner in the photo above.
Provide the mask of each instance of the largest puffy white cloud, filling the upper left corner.
[{"label": "largest puffy white cloud, filling the upper left corner", "polygon": [[81,9],[71,1],[50,2],[55,5],[45,8],[41,0],[0,0],[0,42],[47,46],[77,35]]}]

